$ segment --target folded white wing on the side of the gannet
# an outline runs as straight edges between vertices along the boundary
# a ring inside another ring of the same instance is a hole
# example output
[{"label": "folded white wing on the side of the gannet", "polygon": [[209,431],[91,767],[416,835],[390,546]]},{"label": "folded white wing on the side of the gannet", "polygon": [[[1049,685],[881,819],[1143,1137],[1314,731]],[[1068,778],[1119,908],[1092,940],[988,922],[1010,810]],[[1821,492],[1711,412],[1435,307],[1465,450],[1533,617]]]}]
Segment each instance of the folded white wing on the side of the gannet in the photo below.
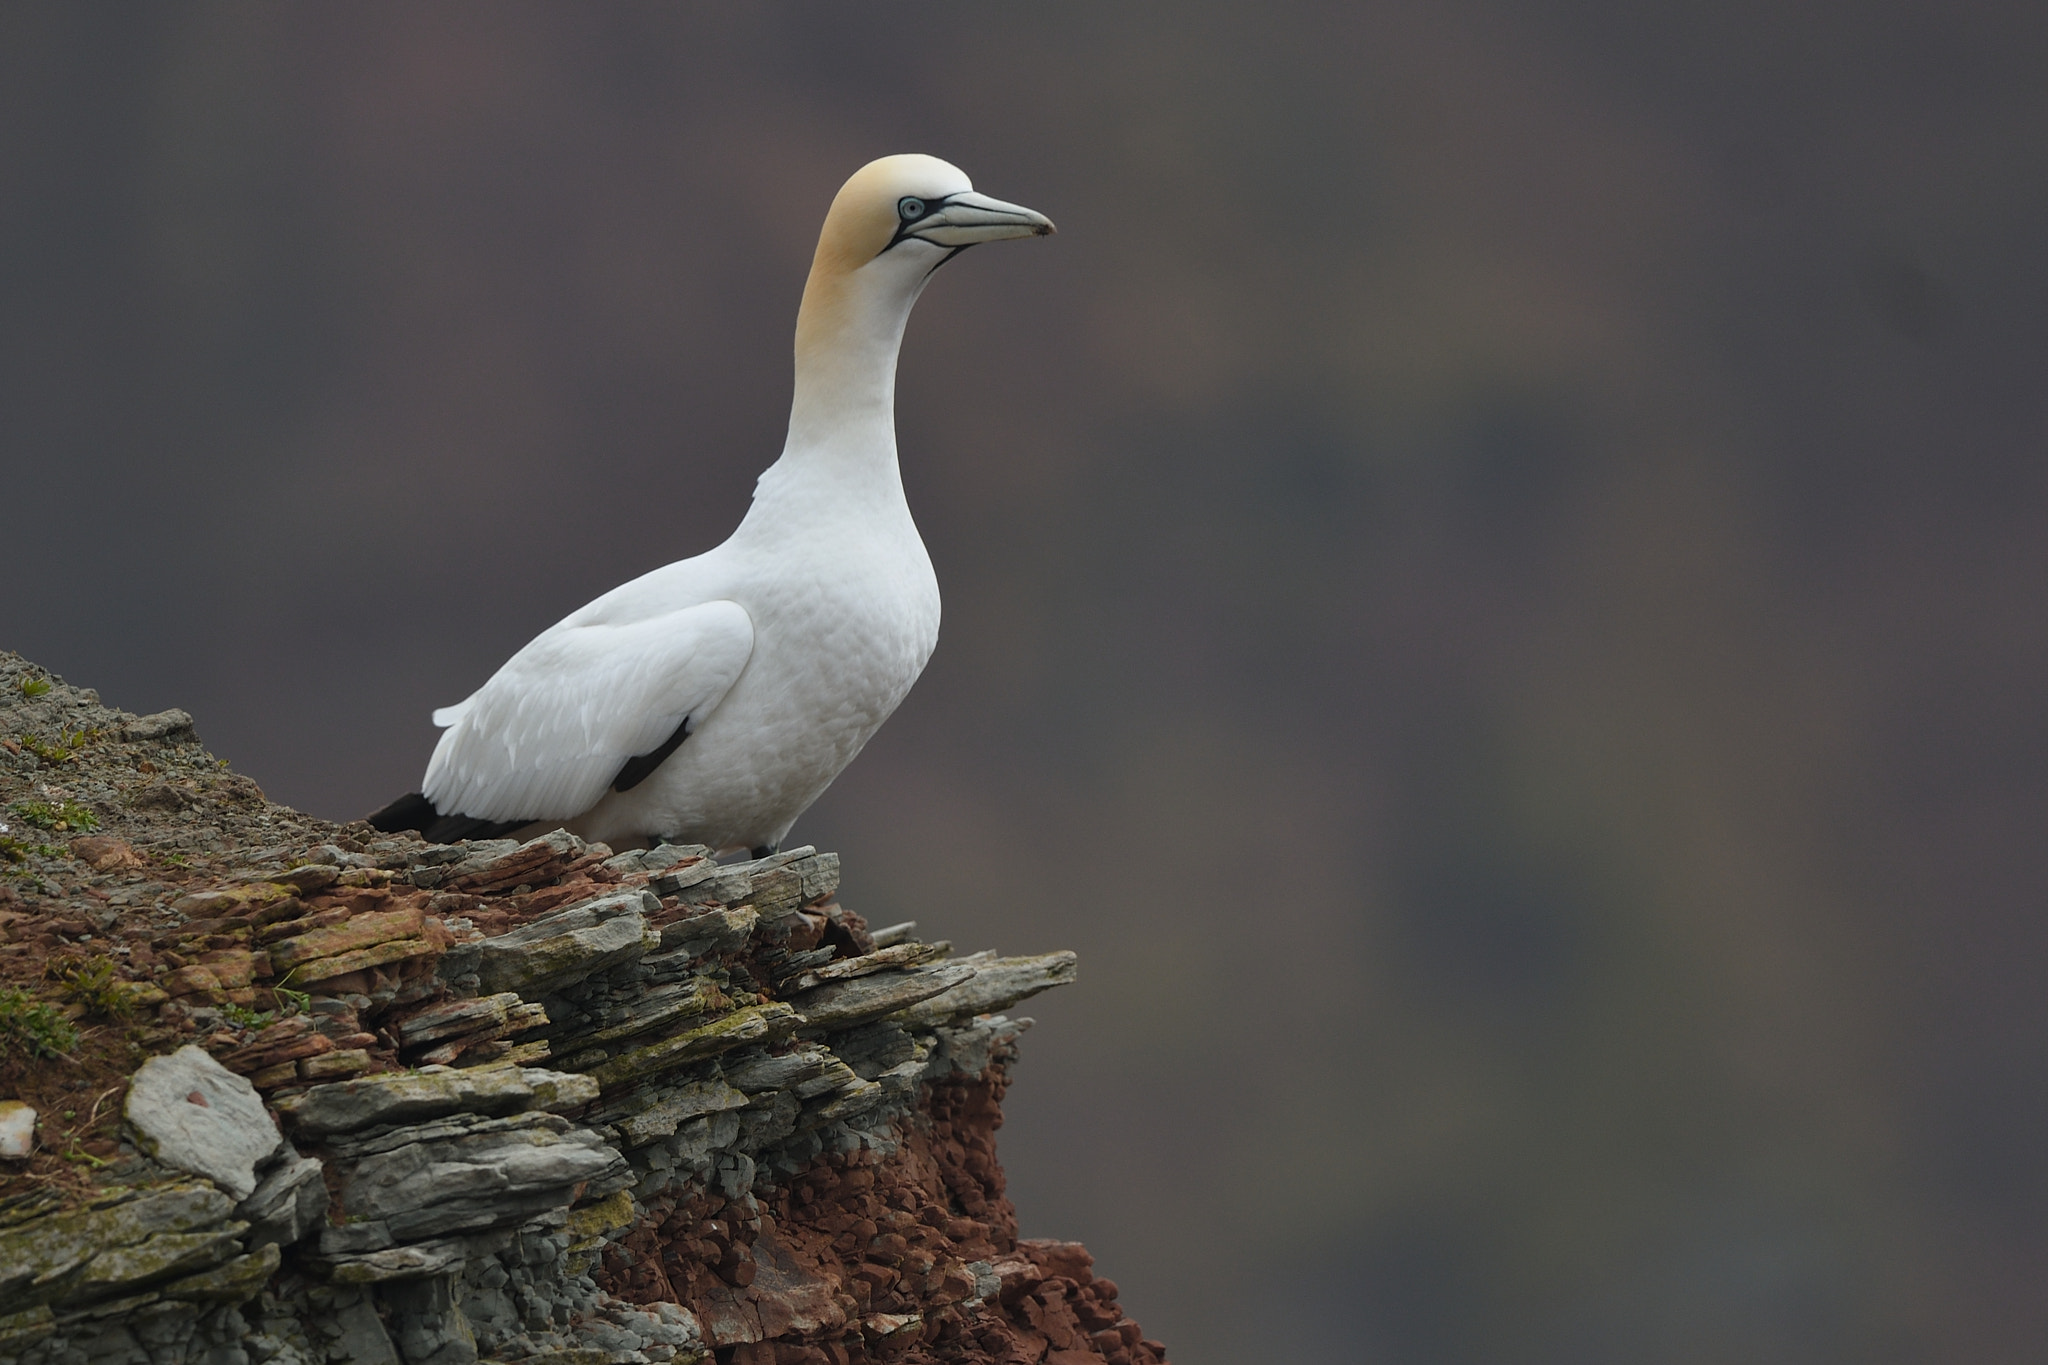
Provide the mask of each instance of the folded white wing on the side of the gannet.
[{"label": "folded white wing on the side of the gannet", "polygon": [[598,802],[627,759],[698,729],[754,653],[737,602],[627,624],[559,624],[512,655],[446,724],[424,794],[442,814],[567,821]]}]

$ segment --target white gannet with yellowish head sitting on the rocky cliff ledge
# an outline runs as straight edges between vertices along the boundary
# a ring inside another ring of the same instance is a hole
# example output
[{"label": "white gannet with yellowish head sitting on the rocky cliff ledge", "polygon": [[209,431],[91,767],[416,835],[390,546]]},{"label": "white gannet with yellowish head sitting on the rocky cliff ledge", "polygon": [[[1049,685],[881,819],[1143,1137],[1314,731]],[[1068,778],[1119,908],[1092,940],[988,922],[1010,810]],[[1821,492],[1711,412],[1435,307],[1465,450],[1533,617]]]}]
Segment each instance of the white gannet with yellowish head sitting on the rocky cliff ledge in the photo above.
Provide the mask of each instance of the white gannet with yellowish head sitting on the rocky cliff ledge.
[{"label": "white gannet with yellowish head sitting on the rocky cliff ledge", "polygon": [[797,311],[788,440],[739,528],[571,612],[436,710],[420,792],[371,825],[774,851],[938,645],[938,579],[897,469],[909,309],[967,248],[1051,231],[938,158],[854,172]]}]

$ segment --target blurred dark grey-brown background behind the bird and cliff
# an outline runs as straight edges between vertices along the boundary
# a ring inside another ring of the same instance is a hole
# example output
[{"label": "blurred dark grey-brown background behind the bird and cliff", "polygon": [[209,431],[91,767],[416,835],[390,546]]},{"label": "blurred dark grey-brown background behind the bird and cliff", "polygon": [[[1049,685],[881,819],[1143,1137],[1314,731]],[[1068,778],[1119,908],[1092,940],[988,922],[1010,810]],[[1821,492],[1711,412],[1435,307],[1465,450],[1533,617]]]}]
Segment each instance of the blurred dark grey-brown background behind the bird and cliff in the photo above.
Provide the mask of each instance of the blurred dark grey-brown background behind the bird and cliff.
[{"label": "blurred dark grey-brown background behind the bird and cliff", "polygon": [[825,205],[938,657],[797,839],[1075,948],[1184,1365],[2038,1361],[2048,6],[0,8],[0,645],[274,798],[717,542]]}]

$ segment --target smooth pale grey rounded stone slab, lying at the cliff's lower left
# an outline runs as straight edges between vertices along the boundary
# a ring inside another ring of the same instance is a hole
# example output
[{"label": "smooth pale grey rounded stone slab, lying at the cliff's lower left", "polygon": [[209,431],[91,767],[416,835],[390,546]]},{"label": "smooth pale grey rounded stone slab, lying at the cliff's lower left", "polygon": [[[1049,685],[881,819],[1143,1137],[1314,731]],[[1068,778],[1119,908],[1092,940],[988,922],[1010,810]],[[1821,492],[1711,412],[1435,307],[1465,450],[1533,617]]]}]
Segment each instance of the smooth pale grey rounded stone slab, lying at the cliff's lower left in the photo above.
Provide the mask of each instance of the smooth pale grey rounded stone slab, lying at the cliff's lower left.
[{"label": "smooth pale grey rounded stone slab, lying at the cliff's lower left", "polygon": [[141,1064],[125,1113],[150,1156],[236,1199],[256,1191],[256,1166],[283,1142],[256,1087],[190,1044]]}]

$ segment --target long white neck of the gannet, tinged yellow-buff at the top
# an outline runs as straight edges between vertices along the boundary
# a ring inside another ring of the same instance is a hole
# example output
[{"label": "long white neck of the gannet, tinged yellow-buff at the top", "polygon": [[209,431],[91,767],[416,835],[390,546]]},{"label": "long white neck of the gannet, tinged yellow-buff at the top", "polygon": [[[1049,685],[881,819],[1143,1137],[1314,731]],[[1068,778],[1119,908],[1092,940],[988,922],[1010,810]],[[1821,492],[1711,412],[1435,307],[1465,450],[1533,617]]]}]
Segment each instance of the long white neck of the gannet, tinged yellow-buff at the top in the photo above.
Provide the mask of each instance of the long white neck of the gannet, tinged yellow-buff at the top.
[{"label": "long white neck of the gannet, tinged yellow-buff at the top", "polygon": [[774,471],[801,471],[840,497],[901,501],[895,366],[920,291],[922,280],[905,289],[885,272],[811,272],[797,311],[788,442]]}]

